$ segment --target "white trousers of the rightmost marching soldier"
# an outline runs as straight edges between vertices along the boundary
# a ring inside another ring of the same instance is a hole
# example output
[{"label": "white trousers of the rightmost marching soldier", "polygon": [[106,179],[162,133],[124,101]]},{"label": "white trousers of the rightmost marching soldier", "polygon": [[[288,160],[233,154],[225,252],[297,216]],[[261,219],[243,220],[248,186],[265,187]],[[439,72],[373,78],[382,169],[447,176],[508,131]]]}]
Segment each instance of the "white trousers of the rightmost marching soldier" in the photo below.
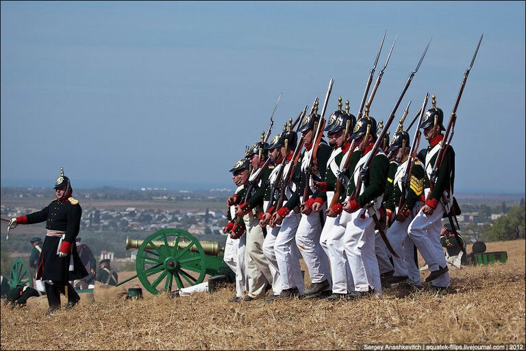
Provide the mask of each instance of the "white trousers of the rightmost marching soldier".
[{"label": "white trousers of the rightmost marching soldier", "polygon": [[[429,189],[425,189],[425,194]],[[440,244],[440,230],[442,229],[442,216],[444,215],[444,206],[439,202],[433,213],[428,216],[420,210],[409,225],[409,237],[416,245],[416,248],[422,254],[425,263],[429,266],[430,271],[436,271],[438,266],[446,267],[446,258],[444,249]],[[436,287],[447,287],[450,284],[449,272],[442,274],[433,280]]]}]

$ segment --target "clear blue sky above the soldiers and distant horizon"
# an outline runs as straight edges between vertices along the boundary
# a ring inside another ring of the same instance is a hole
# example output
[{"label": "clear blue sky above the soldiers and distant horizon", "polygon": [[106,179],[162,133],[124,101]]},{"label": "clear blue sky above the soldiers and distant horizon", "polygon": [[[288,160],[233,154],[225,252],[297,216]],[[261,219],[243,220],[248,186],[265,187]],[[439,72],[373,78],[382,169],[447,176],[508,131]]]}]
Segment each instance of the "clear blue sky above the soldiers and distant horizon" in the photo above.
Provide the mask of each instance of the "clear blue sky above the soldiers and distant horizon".
[{"label": "clear blue sky above the soldiers and distant horizon", "polygon": [[525,191],[523,1],[2,1],[0,25],[2,186],[51,186],[62,165],[77,187],[231,186],[279,93],[275,132],[330,78],[327,112],[342,95],[356,113],[387,29],[379,65],[398,39],[376,119],[431,36],[402,106],[414,114],[429,91],[449,119],[484,33],[458,108],[455,189]]}]

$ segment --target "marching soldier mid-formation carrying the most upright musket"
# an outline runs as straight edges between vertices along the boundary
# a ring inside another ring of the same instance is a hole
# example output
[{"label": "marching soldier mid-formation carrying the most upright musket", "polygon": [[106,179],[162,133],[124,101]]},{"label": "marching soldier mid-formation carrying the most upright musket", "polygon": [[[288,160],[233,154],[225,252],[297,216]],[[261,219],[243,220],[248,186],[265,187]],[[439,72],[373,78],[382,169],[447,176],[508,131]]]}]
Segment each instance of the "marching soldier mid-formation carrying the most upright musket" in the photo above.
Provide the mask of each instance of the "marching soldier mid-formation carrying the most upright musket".
[{"label": "marching soldier mid-formation carrying the most upright musket", "polygon": [[[327,205],[327,197],[325,193],[319,193],[314,188],[314,181],[321,181],[325,178],[325,171],[327,170],[327,160],[331,154],[331,147],[321,141],[318,147],[316,159],[313,160],[313,174],[310,184],[305,184],[307,179],[306,172],[312,151],[314,147],[314,134],[316,134],[315,126],[320,123],[321,116],[317,114],[317,108],[314,108],[312,114],[309,114],[299,128],[299,132],[303,136],[305,142],[305,149],[301,156],[301,178],[297,184],[299,190],[303,194],[305,186],[309,188],[309,197],[303,198],[298,192],[295,192],[288,202],[284,205],[284,209],[290,211],[298,204],[301,204],[301,219],[296,232],[296,243],[303,256],[303,260],[309,270],[311,285],[305,290],[305,298],[322,298],[323,295],[331,291],[331,273],[329,267],[329,258],[320,244],[321,230],[325,221],[325,208]],[[287,213],[279,213],[287,215]]]}]

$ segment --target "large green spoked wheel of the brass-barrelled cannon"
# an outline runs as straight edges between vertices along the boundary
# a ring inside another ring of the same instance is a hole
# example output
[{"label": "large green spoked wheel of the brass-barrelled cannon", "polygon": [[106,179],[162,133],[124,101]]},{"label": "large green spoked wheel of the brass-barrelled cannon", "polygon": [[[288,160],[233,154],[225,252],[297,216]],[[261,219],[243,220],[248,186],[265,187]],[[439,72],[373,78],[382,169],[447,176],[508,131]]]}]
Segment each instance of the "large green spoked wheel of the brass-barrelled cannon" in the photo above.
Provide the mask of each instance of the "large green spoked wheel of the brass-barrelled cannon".
[{"label": "large green spoked wheel of the brass-barrelled cannon", "polygon": [[[184,243],[181,245],[181,243]],[[151,234],[137,252],[137,276],[154,295],[203,282],[206,254],[186,230],[168,228]]]}]

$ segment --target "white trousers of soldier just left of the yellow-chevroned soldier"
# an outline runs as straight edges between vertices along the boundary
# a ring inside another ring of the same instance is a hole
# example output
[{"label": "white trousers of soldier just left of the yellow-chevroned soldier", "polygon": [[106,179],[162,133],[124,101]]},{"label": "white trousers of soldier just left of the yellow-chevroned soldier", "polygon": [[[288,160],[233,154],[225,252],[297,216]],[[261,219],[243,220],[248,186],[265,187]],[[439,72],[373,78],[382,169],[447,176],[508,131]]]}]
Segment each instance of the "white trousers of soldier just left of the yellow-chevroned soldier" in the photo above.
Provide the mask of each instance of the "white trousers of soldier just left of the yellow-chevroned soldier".
[{"label": "white trousers of soldier just left of the yellow-chevroned soldier", "polygon": [[353,274],[355,291],[364,292],[373,287],[381,294],[380,271],[375,254],[375,221],[364,208],[351,213],[343,245]]}]

